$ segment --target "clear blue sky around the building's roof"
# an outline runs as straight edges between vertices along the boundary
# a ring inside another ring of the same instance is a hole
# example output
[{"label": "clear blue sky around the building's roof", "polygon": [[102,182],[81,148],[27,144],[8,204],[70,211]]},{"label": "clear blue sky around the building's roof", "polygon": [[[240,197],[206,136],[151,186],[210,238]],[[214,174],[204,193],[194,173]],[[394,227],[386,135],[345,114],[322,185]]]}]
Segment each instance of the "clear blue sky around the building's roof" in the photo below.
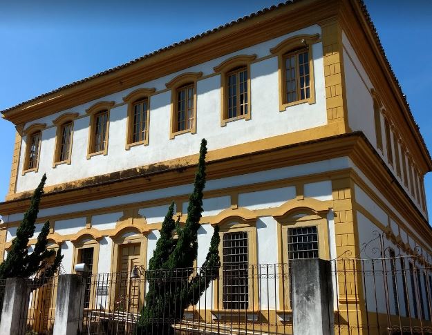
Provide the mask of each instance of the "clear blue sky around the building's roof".
[{"label": "clear blue sky around the building's roof", "polygon": [[[0,110],[278,1],[5,2],[0,3]],[[432,1],[366,0],[366,5],[431,150]],[[3,119],[0,136],[2,201],[15,137],[15,128]],[[432,173],[426,175],[426,194],[432,208]]]}]

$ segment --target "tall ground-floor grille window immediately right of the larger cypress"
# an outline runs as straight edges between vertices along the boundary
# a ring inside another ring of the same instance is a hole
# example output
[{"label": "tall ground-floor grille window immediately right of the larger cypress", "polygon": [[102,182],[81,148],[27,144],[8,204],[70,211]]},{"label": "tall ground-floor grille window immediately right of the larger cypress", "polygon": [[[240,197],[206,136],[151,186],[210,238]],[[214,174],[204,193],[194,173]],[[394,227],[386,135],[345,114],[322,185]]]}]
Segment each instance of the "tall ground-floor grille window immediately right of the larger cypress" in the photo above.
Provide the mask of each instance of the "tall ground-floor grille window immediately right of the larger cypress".
[{"label": "tall ground-floor grille window immediately right of the larger cypress", "polygon": [[247,232],[223,234],[223,308],[247,309],[249,278]]}]

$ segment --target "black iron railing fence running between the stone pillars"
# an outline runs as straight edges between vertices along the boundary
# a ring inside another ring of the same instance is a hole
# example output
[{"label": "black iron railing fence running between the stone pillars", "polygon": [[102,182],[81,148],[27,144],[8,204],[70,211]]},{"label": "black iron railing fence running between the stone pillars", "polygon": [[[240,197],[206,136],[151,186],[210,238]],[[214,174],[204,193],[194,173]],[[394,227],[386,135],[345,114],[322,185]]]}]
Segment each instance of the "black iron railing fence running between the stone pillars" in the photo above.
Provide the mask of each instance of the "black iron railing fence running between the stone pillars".
[{"label": "black iron railing fence running between the stone pillars", "polygon": [[[432,334],[432,260],[390,254],[330,261],[334,334]],[[289,269],[269,264],[91,274],[82,285],[82,333],[292,334]],[[197,274],[202,280],[194,282]],[[26,334],[52,334],[56,296],[57,277],[28,280],[28,305],[21,308]]]}]

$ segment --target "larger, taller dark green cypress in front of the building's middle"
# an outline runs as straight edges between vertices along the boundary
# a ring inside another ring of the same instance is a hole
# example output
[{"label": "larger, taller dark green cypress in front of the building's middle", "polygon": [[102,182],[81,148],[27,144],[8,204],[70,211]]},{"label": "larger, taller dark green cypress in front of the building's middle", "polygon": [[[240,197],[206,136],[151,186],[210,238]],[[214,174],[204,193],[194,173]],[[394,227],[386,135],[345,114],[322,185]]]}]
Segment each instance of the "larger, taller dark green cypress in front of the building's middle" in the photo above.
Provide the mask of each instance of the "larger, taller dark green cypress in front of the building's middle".
[{"label": "larger, taller dark green cypress in front of the building's middle", "polygon": [[146,305],[138,318],[135,334],[174,334],[172,325],[182,320],[187,307],[198,303],[200,296],[218,276],[218,226],[214,229],[203,266],[199,273],[194,271],[194,261],[198,254],[198,229],[203,213],[206,155],[207,141],[203,139],[194,191],[189,196],[185,227],[180,227],[178,221],[174,222],[171,204],[146,271],[149,291],[145,296]]}]

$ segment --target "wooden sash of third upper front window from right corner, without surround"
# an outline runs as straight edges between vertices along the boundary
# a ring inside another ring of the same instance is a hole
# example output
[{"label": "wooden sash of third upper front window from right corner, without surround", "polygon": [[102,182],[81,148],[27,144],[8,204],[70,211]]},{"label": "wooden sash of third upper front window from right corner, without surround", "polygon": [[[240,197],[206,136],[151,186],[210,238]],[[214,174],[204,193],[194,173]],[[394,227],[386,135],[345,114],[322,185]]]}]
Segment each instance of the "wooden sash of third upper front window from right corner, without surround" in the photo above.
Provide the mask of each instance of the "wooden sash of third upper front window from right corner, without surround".
[{"label": "wooden sash of third upper front window from right corner, without surround", "polygon": [[194,85],[177,90],[177,131],[187,131],[194,124]]}]

